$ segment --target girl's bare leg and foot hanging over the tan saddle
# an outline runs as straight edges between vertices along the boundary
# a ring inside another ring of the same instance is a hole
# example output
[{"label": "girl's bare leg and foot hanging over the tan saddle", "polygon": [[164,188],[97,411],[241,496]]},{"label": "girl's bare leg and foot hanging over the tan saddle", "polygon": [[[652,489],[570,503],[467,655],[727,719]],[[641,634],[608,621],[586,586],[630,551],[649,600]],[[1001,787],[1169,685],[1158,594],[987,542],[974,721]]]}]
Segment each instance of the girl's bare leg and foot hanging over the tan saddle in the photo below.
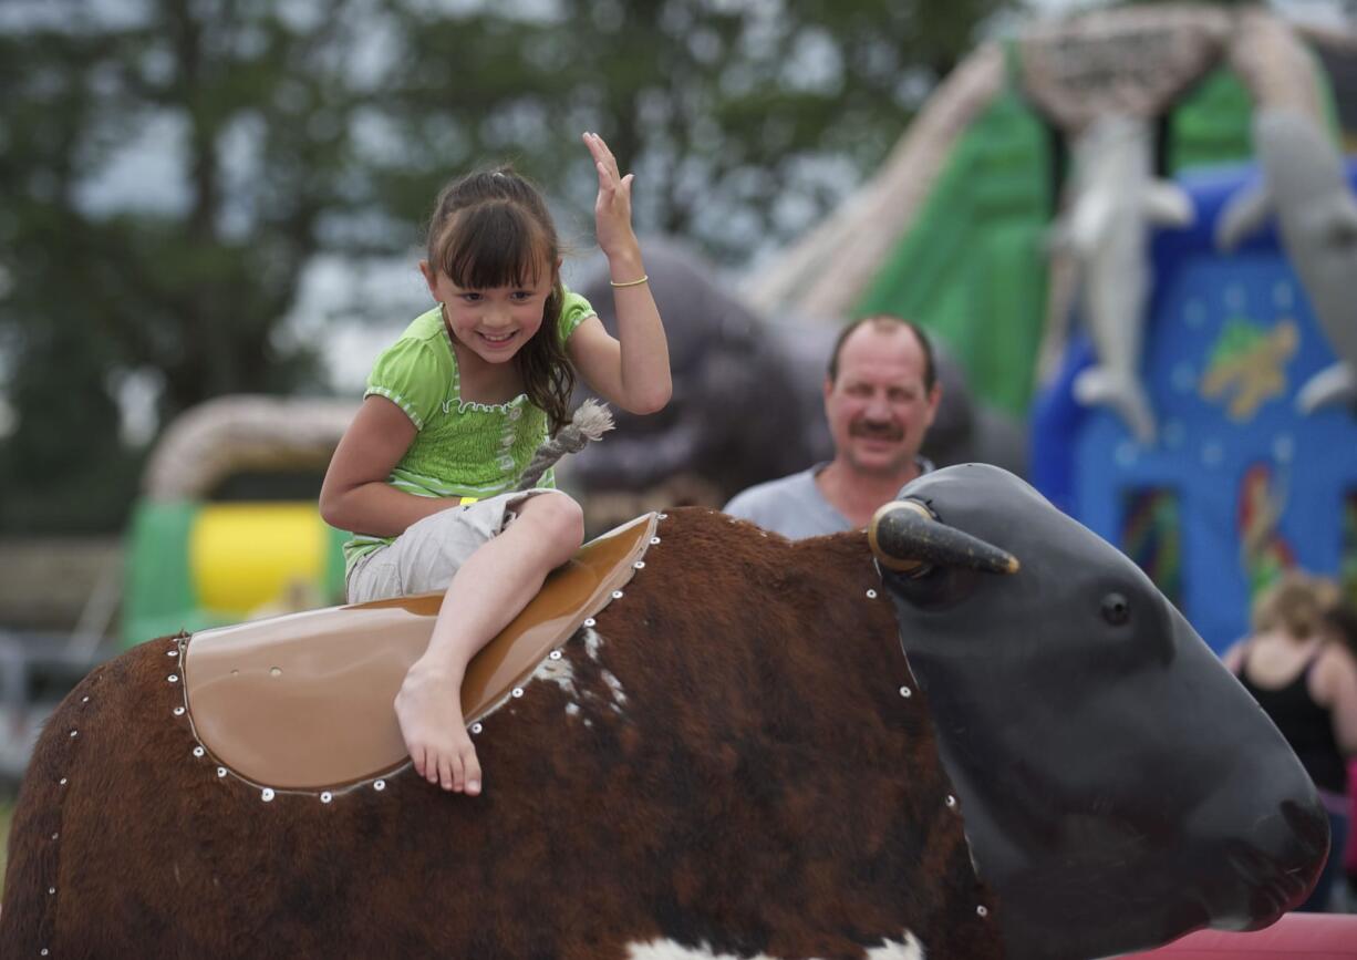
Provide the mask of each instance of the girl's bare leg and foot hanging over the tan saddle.
[{"label": "girl's bare leg and foot hanging over the tan saddle", "polygon": [[396,718],[415,770],[444,790],[480,793],[480,763],[461,717],[467,664],[584,540],[584,515],[569,497],[540,494],[517,511],[505,532],[453,576],[429,648],[396,694]]}]

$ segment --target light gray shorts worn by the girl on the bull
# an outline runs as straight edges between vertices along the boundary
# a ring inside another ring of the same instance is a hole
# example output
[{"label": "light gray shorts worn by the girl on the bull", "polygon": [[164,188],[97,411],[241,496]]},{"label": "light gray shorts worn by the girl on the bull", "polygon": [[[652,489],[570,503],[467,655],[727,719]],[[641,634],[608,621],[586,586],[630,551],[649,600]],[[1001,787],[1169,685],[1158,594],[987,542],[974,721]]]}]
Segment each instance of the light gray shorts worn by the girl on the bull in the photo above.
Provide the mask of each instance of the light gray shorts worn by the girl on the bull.
[{"label": "light gray shorts worn by the girl on the bull", "polygon": [[446,589],[476,549],[503,532],[517,516],[514,508],[541,493],[533,489],[501,493],[467,506],[451,506],[411,524],[392,543],[362,557],[349,572],[349,603]]}]

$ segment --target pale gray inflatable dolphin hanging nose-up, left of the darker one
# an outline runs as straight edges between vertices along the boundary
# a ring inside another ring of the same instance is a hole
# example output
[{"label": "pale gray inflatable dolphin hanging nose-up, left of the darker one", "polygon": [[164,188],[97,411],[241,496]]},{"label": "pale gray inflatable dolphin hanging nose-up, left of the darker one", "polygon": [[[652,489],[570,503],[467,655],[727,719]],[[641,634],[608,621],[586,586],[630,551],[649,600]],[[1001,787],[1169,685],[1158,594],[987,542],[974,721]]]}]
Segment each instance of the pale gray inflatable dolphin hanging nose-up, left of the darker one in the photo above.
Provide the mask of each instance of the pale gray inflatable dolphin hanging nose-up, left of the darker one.
[{"label": "pale gray inflatable dolphin hanging nose-up, left of the darker one", "polygon": [[1149,292],[1149,231],[1191,223],[1187,194],[1155,179],[1153,141],[1145,121],[1106,114],[1080,134],[1067,213],[1052,248],[1072,255],[1083,315],[1098,364],[1075,380],[1086,406],[1111,407],[1136,439],[1155,439],[1155,414],[1139,379]]}]

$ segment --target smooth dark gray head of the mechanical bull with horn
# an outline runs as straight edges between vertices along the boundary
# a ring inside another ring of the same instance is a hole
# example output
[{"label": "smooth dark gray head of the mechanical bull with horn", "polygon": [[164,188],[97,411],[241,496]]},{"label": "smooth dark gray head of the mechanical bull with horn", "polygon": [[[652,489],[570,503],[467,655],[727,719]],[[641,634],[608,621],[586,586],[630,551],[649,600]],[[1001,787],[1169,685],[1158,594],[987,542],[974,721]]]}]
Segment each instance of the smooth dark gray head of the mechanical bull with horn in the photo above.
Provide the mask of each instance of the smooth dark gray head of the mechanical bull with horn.
[{"label": "smooth dark gray head of the mechanical bull with horn", "polygon": [[871,543],[1008,956],[1109,956],[1299,903],[1329,846],[1314,786],[1149,578],[996,467],[901,498]]}]

